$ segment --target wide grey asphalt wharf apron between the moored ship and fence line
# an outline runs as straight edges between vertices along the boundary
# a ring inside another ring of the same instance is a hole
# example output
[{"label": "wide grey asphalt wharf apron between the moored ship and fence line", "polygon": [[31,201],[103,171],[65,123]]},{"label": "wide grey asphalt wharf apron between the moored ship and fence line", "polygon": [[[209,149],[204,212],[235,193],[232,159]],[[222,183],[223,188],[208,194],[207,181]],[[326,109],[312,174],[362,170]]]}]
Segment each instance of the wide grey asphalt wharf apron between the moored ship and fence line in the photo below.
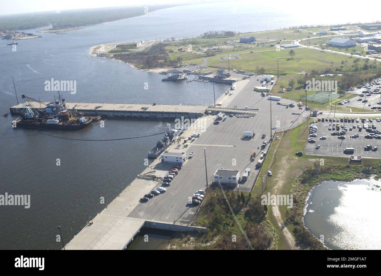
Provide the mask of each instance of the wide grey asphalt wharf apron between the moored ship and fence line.
[{"label": "wide grey asphalt wharf apron between the moored ship and fence line", "polygon": [[[188,148],[187,155],[194,152],[195,156],[186,161],[178,175],[171,182],[167,191],[147,203],[138,204],[129,216],[146,220],[163,222],[186,222],[191,219],[195,208],[187,204],[187,199],[199,189],[204,189],[206,184],[204,150],[207,153],[208,182],[211,183],[216,169],[236,169],[241,172],[245,168],[251,168],[251,174],[246,183],[240,184],[240,190],[250,191],[258,174],[255,168],[257,155],[254,162],[250,162],[253,150],[258,152],[264,140],[269,140],[270,134],[270,103],[272,104],[272,126],[283,128],[290,126],[300,112],[298,108],[286,108],[277,105],[274,101],[261,97],[261,93],[253,91],[258,86],[258,77],[251,77],[247,85],[235,95],[227,107],[259,108],[257,115],[251,118],[227,117],[226,121],[219,125],[210,124],[205,132],[195,140]],[[261,78],[261,77],[260,77]],[[290,102],[283,100],[283,102]],[[213,121],[215,116],[207,116],[206,120]],[[300,119],[299,119],[300,120]],[[211,123],[211,121],[209,123]],[[251,140],[241,140],[244,131],[254,131],[256,136]],[[267,134],[261,139],[263,133]],[[183,150],[183,149],[182,149]],[[265,149],[267,150],[267,148]]]}]

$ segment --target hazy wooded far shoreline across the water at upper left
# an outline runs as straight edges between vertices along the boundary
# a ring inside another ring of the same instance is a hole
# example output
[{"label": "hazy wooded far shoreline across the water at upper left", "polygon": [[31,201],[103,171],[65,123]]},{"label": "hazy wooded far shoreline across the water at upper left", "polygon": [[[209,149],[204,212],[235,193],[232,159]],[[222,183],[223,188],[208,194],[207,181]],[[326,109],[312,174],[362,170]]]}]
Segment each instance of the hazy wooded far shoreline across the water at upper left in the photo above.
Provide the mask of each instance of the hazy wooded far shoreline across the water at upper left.
[{"label": "hazy wooded far shoreline across the water at upper left", "polygon": [[[53,29],[63,29],[104,22],[117,21],[120,19],[141,16],[151,11],[170,8],[179,5],[152,5],[118,8],[97,8],[86,10],[51,11],[28,14],[12,14],[0,16],[0,25],[6,30],[28,30],[45,26],[53,26]],[[3,29],[0,29],[0,32]]]}]

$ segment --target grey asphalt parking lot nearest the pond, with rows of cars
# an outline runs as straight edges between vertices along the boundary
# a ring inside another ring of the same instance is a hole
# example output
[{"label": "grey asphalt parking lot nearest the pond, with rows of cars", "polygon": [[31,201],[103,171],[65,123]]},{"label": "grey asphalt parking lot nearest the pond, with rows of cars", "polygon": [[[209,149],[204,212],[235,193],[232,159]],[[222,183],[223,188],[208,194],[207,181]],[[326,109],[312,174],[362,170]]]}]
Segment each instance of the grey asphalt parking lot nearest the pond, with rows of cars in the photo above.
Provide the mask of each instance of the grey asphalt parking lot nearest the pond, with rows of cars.
[{"label": "grey asphalt parking lot nearest the pond, with rows of cars", "polygon": [[[362,127],[363,123],[361,122],[361,118],[359,122],[345,123],[339,122],[340,131],[343,130],[341,125],[348,125],[348,131],[344,134],[345,139],[339,139],[338,136],[332,136],[331,132],[337,132],[335,130],[328,130],[329,124],[337,124],[337,122],[333,121],[324,121],[317,123],[317,132],[315,137],[315,143],[308,143],[306,147],[306,155],[322,155],[322,156],[336,156],[336,157],[349,157],[351,155],[359,155],[362,158],[381,158],[381,139],[375,138],[365,138],[369,132],[366,132],[364,129],[359,131],[358,125]],[[381,130],[381,122],[376,122],[376,120],[372,120],[372,122],[365,122],[365,124],[375,124],[376,130]],[[355,125],[356,128],[349,130],[349,128]],[[352,135],[359,134],[357,138],[351,138]],[[321,140],[319,137],[325,136],[327,139]],[[316,148],[317,145],[320,145],[320,148]],[[373,147],[378,147],[378,150],[364,150],[366,145],[372,145]],[[345,148],[354,148],[353,153],[344,153]]]}]

